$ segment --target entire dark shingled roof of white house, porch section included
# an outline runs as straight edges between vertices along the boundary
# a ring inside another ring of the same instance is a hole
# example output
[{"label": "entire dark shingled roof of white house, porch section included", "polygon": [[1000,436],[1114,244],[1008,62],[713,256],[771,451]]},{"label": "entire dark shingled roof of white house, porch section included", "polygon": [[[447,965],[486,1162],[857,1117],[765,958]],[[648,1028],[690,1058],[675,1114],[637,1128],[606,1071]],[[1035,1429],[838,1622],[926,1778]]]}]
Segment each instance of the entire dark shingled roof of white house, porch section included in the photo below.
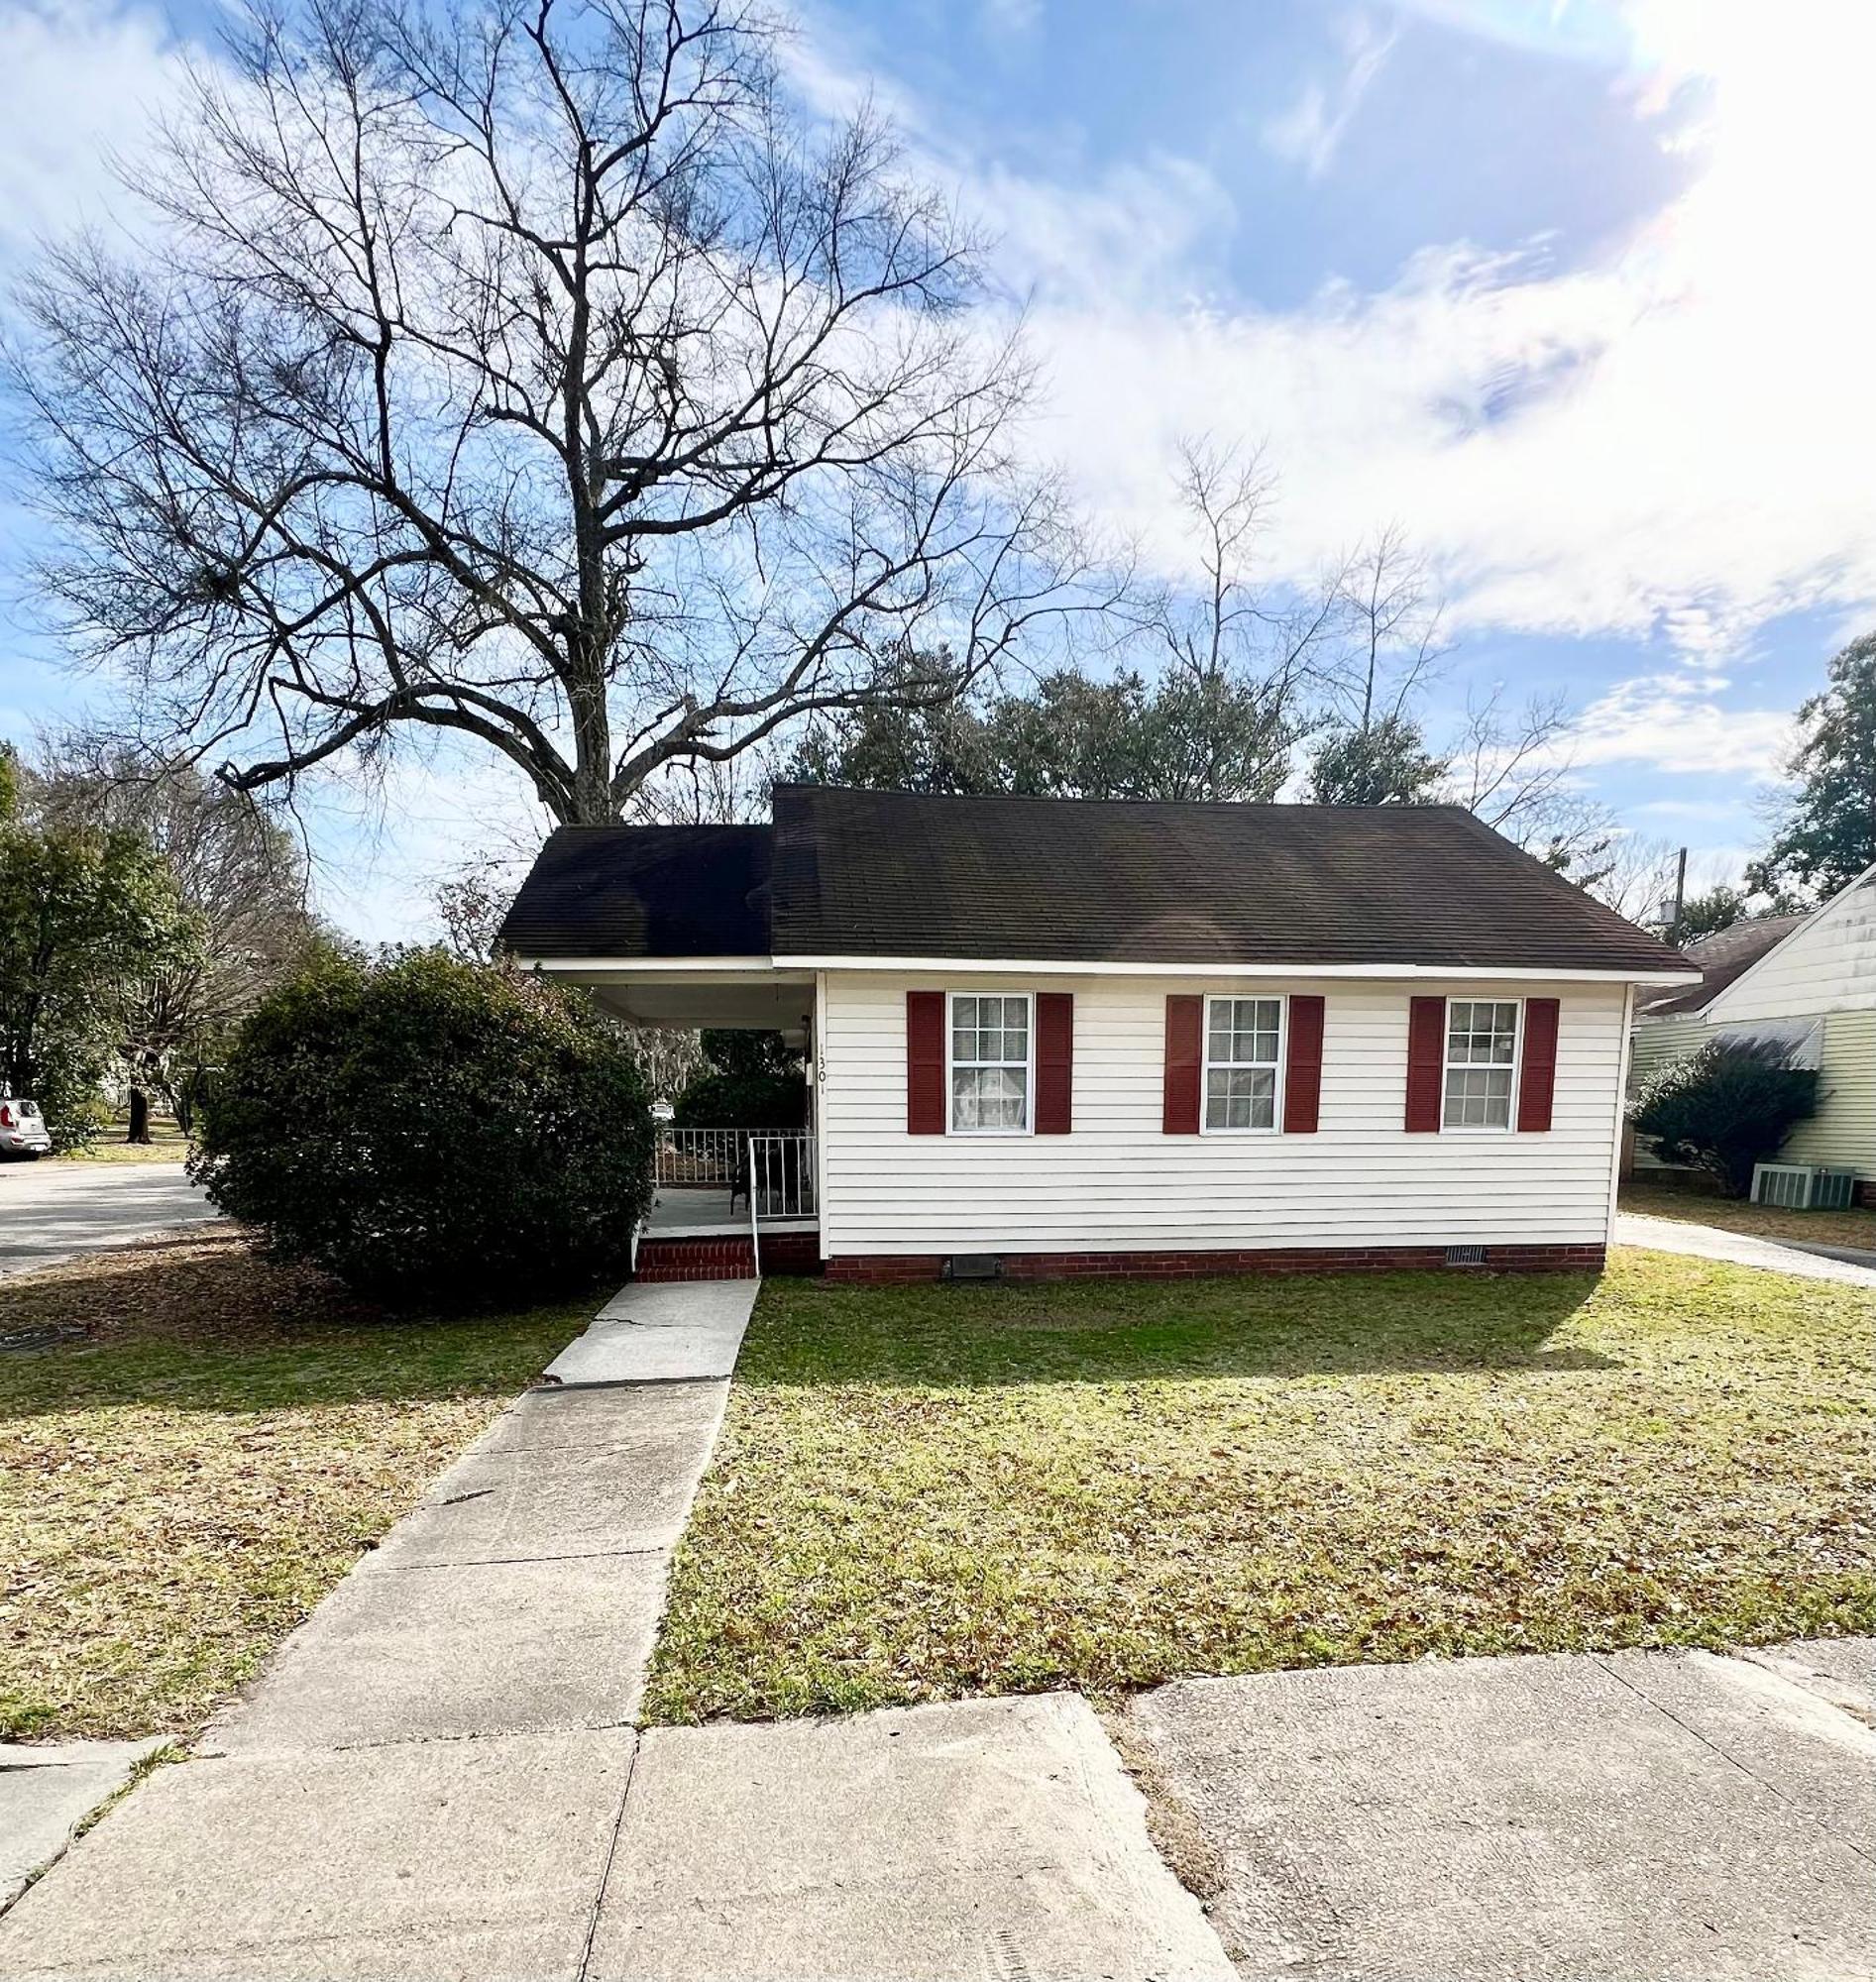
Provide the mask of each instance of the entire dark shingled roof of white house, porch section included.
[{"label": "entire dark shingled roof of white house, porch section included", "polygon": [[1684,961],[1458,807],[946,799],[821,785],[779,785],[773,828],[563,826],[502,941],[524,957],[1634,973]]}]

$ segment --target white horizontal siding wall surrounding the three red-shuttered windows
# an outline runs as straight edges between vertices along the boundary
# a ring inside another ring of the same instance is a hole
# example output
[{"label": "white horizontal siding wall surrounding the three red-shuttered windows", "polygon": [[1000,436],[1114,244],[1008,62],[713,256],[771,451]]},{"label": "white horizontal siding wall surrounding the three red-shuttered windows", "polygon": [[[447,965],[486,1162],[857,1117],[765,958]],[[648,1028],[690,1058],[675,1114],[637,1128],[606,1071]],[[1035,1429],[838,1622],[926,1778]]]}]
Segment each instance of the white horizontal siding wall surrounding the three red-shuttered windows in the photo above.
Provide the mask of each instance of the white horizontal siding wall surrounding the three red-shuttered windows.
[{"label": "white horizontal siding wall surrounding the three red-shuttered windows", "polygon": [[[1071,1136],[908,1136],[906,991],[1075,993]],[[1315,1136],[1162,1136],[1166,995],[1319,991]],[[1547,1134],[1408,1136],[1408,999],[1555,995]],[[823,1253],[1600,1245],[1608,1227],[1620,985],[1208,977],[900,977],[829,971]]]}]

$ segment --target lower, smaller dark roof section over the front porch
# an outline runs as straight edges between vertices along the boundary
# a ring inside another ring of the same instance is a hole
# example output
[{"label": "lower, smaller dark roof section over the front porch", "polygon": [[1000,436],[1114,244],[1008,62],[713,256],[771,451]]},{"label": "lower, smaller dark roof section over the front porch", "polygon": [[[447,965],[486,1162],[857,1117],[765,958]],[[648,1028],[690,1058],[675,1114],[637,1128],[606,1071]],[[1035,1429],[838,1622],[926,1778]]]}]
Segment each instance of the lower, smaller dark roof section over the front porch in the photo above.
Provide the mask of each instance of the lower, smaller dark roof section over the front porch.
[{"label": "lower, smaller dark roof section over the front porch", "polygon": [[496,937],[522,957],[765,957],[767,826],[559,826]]}]

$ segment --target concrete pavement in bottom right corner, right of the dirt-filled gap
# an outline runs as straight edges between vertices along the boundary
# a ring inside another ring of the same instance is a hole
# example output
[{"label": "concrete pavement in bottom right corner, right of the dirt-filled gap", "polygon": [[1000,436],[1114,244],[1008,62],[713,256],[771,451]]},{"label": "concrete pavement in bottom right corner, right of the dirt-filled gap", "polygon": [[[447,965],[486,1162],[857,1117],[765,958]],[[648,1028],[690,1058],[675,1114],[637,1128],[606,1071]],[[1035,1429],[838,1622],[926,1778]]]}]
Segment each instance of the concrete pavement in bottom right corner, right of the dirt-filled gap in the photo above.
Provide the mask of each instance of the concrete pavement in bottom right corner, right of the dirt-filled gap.
[{"label": "concrete pavement in bottom right corner, right of the dirt-filled gap", "polygon": [[1245,1978],[1876,1976],[1876,1641],[1142,1695]]}]

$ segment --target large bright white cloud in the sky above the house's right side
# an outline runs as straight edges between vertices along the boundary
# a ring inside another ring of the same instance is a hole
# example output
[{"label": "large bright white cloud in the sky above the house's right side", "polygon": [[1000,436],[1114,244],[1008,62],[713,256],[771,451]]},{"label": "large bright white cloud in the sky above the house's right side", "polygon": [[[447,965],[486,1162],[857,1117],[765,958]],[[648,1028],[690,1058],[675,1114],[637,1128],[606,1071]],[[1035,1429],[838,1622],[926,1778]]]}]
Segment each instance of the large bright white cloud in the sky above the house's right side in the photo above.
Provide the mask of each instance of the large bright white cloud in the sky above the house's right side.
[{"label": "large bright white cloud in the sky above the house's right side", "polygon": [[1021,254],[1071,272],[1033,311],[1047,444],[1174,559],[1172,438],[1263,440],[1277,571],[1400,519],[1460,628],[1660,634],[1698,658],[1876,601],[1876,270],[1854,252],[1876,10],[1805,22],[1690,16],[1678,59],[1713,69],[1705,170],[1590,268],[1454,244],[1378,293],[1259,311],[1194,299],[1208,234],[1168,161],[1160,224],[1120,168],[1087,190],[986,174]]}]

